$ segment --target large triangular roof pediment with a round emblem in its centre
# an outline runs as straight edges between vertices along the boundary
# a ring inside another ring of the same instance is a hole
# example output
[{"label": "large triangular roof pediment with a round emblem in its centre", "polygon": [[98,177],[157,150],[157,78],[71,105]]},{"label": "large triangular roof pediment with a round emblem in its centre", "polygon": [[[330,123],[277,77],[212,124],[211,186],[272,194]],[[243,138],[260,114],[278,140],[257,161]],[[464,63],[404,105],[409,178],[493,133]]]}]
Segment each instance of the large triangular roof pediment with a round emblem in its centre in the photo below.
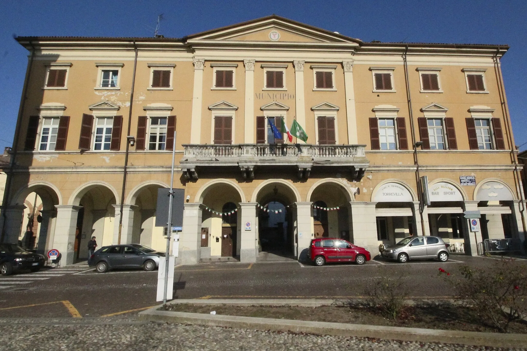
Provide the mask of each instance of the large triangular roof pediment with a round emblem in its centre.
[{"label": "large triangular roof pediment with a round emblem in its centre", "polygon": [[355,44],[361,42],[358,39],[288,20],[277,15],[189,35],[187,40]]}]

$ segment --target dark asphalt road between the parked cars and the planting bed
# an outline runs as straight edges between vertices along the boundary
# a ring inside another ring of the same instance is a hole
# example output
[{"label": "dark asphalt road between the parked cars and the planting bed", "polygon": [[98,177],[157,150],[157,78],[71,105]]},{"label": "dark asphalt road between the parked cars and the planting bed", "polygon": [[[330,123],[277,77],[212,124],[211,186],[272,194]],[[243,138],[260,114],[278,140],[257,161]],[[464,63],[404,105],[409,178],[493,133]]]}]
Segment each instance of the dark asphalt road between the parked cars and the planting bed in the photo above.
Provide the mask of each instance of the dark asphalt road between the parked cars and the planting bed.
[{"label": "dark asphalt road between the parked cars and the planting bed", "polygon": [[[462,264],[493,265],[492,258],[452,255],[446,263],[382,259],[324,267],[297,261],[201,263],[175,268],[174,297],[344,298],[364,296],[373,277],[404,279],[413,297],[448,297],[452,289],[438,269],[455,273]],[[526,262],[527,263],[527,262]],[[95,273],[87,266],[43,269],[0,277],[2,317],[130,316],[155,306],[157,271]],[[401,277],[401,278],[398,278]]]}]

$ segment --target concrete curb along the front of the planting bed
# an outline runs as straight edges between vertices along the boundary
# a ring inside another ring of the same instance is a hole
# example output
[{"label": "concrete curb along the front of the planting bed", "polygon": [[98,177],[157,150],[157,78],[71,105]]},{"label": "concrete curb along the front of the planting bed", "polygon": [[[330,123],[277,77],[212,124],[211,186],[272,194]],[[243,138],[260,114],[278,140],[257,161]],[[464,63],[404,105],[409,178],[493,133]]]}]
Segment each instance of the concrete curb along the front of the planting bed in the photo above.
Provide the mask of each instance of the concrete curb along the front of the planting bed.
[{"label": "concrete curb along the front of the planting bed", "polygon": [[[208,301],[209,303],[220,303],[219,300],[204,301]],[[254,300],[252,304],[255,304]],[[292,331],[294,333],[318,335],[356,336],[386,340],[421,341],[425,343],[527,348],[527,334],[481,333],[478,331],[385,327],[363,324],[314,322],[306,320],[206,315],[189,312],[159,311],[158,309],[161,306],[162,305],[155,306],[148,310],[139,312],[139,319],[155,322],[172,322],[179,324],[196,324],[240,329],[260,329],[285,332]]]}]

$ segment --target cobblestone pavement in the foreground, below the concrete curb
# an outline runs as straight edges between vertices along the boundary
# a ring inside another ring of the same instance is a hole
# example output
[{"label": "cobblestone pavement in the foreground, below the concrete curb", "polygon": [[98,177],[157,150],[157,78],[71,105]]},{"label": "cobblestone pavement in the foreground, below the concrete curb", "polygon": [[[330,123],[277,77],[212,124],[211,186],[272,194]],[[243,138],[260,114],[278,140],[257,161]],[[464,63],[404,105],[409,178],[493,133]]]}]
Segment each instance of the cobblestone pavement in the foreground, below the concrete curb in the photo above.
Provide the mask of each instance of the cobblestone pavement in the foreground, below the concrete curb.
[{"label": "cobblestone pavement in the foreground, below the concrete curb", "polygon": [[[452,344],[141,322],[136,318],[0,319],[3,350],[490,350]],[[496,349],[497,350],[497,349]]]}]

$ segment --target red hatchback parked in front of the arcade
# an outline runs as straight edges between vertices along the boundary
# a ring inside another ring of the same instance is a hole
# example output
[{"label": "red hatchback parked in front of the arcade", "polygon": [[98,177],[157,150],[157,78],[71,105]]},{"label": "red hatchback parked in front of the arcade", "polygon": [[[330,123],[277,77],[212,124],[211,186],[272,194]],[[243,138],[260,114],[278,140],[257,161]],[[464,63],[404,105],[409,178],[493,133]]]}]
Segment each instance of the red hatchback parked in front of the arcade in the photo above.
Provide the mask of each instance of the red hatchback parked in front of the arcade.
[{"label": "red hatchback parked in front of the arcade", "polygon": [[326,262],[355,262],[364,264],[372,259],[368,250],[346,240],[333,238],[313,239],[309,243],[308,257],[315,265]]}]

